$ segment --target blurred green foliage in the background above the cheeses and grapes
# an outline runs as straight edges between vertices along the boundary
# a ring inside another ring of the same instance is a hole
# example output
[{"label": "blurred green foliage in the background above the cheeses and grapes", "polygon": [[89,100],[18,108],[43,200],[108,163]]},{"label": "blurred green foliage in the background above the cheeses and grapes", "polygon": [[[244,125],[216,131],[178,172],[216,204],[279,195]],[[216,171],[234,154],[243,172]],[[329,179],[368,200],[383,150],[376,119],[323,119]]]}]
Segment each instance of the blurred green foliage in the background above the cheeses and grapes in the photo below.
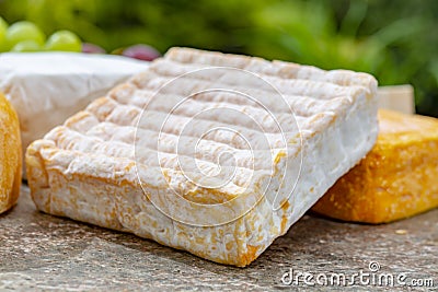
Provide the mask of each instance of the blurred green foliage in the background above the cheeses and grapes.
[{"label": "blurred green foliage in the background above the cheeses and grapes", "polygon": [[191,46],[366,71],[413,84],[417,112],[438,116],[435,0],[0,0],[0,15],[110,51]]}]

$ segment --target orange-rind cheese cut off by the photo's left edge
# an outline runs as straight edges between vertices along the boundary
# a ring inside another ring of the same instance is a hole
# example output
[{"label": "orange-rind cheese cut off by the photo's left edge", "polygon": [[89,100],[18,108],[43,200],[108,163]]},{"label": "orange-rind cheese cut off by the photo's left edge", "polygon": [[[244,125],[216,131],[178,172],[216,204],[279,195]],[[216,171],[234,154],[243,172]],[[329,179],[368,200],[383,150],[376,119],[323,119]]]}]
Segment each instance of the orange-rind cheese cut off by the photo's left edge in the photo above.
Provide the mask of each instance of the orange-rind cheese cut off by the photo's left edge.
[{"label": "orange-rind cheese cut off by the photo's left edge", "polygon": [[0,213],[2,213],[19,199],[22,151],[19,118],[1,93],[0,125]]}]

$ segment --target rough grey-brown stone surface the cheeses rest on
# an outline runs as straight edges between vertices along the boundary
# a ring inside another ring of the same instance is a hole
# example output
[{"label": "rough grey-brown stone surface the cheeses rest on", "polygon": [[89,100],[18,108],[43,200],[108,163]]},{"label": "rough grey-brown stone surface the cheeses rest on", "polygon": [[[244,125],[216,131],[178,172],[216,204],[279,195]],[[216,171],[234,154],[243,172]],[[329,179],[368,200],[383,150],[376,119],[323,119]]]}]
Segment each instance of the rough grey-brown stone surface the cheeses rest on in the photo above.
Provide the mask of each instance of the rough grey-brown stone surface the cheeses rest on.
[{"label": "rough grey-brown stone surface the cheeses rest on", "polygon": [[[371,272],[370,262],[380,269]],[[423,279],[431,279],[435,288],[429,289],[438,289],[438,210],[387,225],[304,215],[247,268],[217,265],[135,235],[41,213],[27,187],[19,205],[0,215],[1,291],[307,288],[303,277],[290,285],[281,281],[290,269],[293,277],[313,275],[308,283],[318,290],[347,289],[337,284],[333,273],[344,275],[350,285],[351,277],[360,271],[370,276],[364,276],[362,282],[356,277],[355,291],[393,290],[379,280],[382,275],[393,277],[396,285],[396,277],[402,277],[407,287],[397,290],[412,290],[408,284]]]}]

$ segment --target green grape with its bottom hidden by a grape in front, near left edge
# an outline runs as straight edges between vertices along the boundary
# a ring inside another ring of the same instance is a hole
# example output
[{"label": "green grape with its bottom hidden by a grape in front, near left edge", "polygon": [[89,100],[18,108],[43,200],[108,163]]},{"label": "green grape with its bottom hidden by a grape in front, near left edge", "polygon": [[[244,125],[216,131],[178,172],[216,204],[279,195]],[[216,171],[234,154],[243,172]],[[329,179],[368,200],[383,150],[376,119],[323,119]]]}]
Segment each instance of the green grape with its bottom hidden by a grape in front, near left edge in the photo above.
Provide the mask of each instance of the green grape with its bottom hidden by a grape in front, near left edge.
[{"label": "green grape with its bottom hidden by a grape in front, near left edge", "polygon": [[34,40],[39,46],[43,46],[45,38],[46,36],[38,26],[28,21],[15,22],[7,31],[8,49],[23,40]]}]

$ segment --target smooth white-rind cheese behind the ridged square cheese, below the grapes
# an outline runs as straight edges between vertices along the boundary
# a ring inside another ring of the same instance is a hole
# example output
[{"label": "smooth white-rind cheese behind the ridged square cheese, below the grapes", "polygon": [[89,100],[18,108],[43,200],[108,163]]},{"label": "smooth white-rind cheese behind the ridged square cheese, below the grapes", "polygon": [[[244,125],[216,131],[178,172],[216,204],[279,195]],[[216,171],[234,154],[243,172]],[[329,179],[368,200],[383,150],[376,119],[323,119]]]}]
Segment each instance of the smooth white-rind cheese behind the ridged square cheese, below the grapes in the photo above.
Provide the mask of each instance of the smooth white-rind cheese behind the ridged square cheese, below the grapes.
[{"label": "smooth white-rind cheese behind the ridged square cheese, below the grapes", "polygon": [[119,56],[0,54],[0,91],[19,114],[23,150],[147,66]]}]

